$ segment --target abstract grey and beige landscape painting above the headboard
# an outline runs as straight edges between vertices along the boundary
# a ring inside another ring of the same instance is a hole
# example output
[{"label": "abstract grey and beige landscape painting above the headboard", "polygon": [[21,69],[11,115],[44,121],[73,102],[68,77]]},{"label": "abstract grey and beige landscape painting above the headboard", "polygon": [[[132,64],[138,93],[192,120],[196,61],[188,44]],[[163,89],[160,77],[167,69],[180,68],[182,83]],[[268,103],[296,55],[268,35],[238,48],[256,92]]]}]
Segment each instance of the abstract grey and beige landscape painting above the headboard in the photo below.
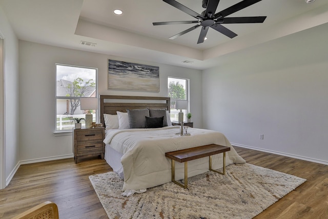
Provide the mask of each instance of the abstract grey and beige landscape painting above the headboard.
[{"label": "abstract grey and beige landscape painting above the headboard", "polygon": [[108,89],[159,92],[159,67],[108,59]]}]

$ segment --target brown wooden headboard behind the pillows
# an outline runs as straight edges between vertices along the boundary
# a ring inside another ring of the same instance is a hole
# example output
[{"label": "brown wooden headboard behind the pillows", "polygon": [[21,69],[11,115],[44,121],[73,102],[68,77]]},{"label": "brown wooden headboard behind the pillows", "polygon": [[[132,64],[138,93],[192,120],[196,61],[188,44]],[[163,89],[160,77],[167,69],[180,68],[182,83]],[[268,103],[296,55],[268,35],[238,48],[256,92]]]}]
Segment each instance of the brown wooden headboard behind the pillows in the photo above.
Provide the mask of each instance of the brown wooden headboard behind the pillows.
[{"label": "brown wooden headboard behind the pillows", "polygon": [[105,127],[104,114],[115,115],[126,109],[167,109],[170,111],[170,97],[100,95],[100,123]]}]

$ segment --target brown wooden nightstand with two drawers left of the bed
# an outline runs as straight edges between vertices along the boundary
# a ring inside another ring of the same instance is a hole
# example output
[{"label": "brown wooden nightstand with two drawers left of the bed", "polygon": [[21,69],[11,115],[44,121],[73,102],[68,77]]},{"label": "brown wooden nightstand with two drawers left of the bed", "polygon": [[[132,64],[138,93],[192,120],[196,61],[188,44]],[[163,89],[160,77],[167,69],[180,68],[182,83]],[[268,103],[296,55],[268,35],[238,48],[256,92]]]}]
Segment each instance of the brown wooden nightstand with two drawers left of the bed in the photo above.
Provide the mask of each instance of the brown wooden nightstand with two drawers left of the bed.
[{"label": "brown wooden nightstand with two drawers left of the bed", "polygon": [[100,155],[104,159],[105,144],[105,128],[81,128],[73,129],[73,145],[75,164],[78,163],[80,156]]}]

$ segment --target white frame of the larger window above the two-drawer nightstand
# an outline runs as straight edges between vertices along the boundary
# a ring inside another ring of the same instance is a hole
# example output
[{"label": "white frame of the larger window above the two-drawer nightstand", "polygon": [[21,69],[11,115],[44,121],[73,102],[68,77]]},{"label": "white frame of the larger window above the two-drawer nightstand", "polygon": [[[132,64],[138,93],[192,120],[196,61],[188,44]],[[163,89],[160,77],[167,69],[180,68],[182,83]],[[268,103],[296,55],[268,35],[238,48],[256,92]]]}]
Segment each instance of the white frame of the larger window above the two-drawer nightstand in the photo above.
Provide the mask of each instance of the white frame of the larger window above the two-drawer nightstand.
[{"label": "white frame of the larger window above the two-drawer nightstand", "polygon": [[[55,63],[55,124],[54,124],[54,134],[56,136],[60,135],[69,135],[72,134],[71,129],[66,130],[57,130],[57,100],[58,99],[79,99],[80,97],[74,97],[74,96],[57,96],[57,66],[68,66],[68,67],[74,67],[74,68],[83,68],[83,69],[93,69],[95,70],[95,97],[98,98],[98,68],[95,67],[88,67],[88,66],[77,66],[77,65],[69,65],[69,64],[61,64],[61,63]],[[92,98],[92,97],[90,97]],[[99,101],[98,101],[99,105]],[[98,106],[99,109],[99,106]],[[98,116],[98,110],[95,111],[95,120],[96,123],[99,121]],[[73,129],[74,125],[72,126]]]}]

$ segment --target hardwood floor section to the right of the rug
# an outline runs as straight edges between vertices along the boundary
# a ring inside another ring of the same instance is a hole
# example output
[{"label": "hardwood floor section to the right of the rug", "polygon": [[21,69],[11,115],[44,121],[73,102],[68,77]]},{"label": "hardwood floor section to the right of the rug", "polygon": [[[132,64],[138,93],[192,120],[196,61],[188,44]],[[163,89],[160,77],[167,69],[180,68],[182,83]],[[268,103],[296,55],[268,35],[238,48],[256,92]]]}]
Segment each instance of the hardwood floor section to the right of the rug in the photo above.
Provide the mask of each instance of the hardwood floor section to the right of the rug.
[{"label": "hardwood floor section to the right of the rug", "polygon": [[241,147],[234,148],[249,164],[307,180],[254,218],[328,218],[327,165]]}]

